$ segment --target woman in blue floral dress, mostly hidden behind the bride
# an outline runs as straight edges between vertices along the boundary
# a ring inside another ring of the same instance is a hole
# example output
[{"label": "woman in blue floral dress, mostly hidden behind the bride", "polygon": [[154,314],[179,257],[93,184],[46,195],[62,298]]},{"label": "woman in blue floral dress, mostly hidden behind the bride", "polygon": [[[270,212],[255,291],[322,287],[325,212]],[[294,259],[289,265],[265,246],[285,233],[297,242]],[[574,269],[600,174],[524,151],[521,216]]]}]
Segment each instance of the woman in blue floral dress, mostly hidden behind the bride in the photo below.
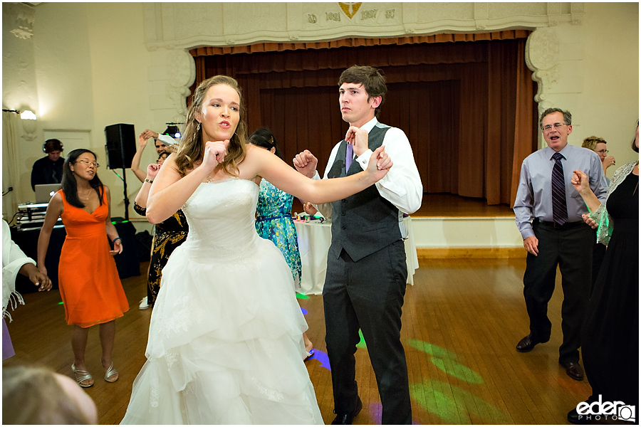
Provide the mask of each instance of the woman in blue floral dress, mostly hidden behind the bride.
[{"label": "woman in blue floral dress, mostly hidden behind the bride", "polygon": [[[271,130],[261,127],[249,137],[249,143],[269,150],[283,159],[283,154]],[[291,219],[293,196],[277,189],[266,179],[261,180],[261,191],[256,205],[256,232],[262,238],[273,241],[281,250],[293,276],[296,290],[301,285],[301,253],[298,251],[298,235]],[[312,342],[303,332],[308,359],[313,354]]]}]

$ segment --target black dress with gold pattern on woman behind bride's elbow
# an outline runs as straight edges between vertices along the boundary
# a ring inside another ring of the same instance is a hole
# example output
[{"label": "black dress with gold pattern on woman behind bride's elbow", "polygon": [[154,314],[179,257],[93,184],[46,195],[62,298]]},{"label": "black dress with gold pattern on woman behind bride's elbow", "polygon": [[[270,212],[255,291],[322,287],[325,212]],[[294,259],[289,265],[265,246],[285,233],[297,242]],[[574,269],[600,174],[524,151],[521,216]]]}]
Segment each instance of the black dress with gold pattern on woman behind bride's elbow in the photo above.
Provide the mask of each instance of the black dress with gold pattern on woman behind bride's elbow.
[{"label": "black dress with gold pattern on woman behind bride's elbow", "polygon": [[[147,209],[134,203],[134,211],[139,215],[145,215]],[[162,269],[167,265],[167,260],[174,249],[182,245],[184,239],[187,238],[187,232],[189,232],[187,218],[184,217],[180,209],[165,221],[156,224],[149,274],[147,275],[147,304],[151,305],[156,302],[160,290]]]}]

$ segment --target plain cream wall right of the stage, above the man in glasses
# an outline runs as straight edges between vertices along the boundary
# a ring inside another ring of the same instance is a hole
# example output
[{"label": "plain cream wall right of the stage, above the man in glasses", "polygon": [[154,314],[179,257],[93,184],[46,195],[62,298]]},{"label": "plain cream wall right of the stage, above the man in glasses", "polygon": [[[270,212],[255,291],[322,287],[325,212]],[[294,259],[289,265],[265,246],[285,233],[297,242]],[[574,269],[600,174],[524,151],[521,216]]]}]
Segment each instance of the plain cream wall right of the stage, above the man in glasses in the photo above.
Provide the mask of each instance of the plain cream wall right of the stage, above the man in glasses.
[{"label": "plain cream wall right of the stage, above the man in glasses", "polygon": [[630,144],[639,118],[639,4],[584,7],[580,26],[555,28],[561,70],[548,100],[572,112],[570,144],[580,147],[585,137],[602,137],[618,167],[638,159]]}]

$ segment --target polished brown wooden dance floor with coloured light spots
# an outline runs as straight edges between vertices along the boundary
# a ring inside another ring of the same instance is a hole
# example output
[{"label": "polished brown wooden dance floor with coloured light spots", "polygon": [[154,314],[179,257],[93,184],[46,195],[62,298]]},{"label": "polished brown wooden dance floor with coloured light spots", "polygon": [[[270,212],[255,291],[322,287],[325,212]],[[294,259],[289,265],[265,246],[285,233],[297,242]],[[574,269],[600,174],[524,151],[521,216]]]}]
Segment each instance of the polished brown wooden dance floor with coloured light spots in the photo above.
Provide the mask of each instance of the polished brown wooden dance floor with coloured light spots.
[{"label": "polished brown wooden dance floor with coloured light spots", "polygon": [[[140,265],[146,272],[147,263]],[[566,424],[566,414],[590,395],[588,381],[575,381],[558,364],[561,301],[558,283],[548,315],[550,342],[521,354],[514,347],[528,333],[523,302],[525,260],[421,260],[415,285],[407,287],[402,342],[410,376],[412,418],[417,424]],[[103,380],[98,328],[90,328],[88,369],[95,386],[87,389],[101,424],[119,423],[132,382],[145,362],[150,310],[138,310],[145,295],[143,275],[123,280],[130,310],[116,321],[115,367],[120,379]],[[12,315],[9,332],[16,356],[3,367],[40,364],[72,376],[71,327],[64,321],[58,291],[24,295],[26,305]],[[306,362],[325,423],[333,420],[330,371],[325,352],[323,300],[299,299],[308,311],[308,335],[318,359]],[[355,424],[380,423],[381,407],[367,349],[356,352],[356,379],[363,411]]]}]

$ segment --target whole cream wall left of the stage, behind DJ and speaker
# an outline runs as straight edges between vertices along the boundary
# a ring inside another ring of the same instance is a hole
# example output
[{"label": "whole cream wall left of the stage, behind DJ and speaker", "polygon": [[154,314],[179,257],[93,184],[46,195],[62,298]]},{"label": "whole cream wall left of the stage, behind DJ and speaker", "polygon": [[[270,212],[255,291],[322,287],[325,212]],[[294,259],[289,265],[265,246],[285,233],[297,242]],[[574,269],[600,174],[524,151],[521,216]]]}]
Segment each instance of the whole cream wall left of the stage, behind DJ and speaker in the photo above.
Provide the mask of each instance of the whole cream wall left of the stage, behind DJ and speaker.
[{"label": "whole cream wall left of the stage, behind DJ and speaker", "polygon": [[[22,97],[38,115],[36,139],[21,139],[19,146],[16,196],[19,201],[33,200],[31,165],[43,157],[45,137],[61,135],[68,153],[80,145],[65,136],[87,133],[90,144],[83,148],[98,154],[100,179],[112,189],[112,215],[124,216],[122,181],[105,167],[105,126],[130,123],[138,133],[147,127],[165,130],[165,121],[152,122],[150,112],[151,64],[142,36],[142,4],[42,3],[32,9],[33,37],[26,41],[9,32],[22,11],[3,11],[3,105],[20,108]],[[31,68],[33,79],[25,79],[25,70]],[[16,84],[22,80],[28,85]],[[143,168],[157,158],[152,146],[151,141],[143,154]],[[122,169],[116,172],[122,175]],[[129,169],[126,174],[130,217],[140,218],[131,208],[140,181]]]}]

